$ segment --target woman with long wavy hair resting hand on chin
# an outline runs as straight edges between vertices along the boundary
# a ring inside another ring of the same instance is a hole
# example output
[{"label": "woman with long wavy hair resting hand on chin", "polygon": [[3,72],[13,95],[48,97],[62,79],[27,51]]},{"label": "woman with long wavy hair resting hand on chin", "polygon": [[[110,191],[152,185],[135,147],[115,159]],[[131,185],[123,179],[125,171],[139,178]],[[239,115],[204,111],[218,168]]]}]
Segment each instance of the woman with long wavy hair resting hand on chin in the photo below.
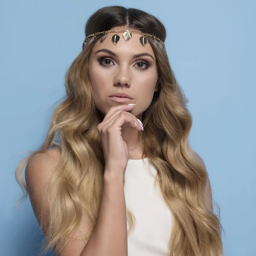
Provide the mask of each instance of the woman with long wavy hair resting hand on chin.
[{"label": "woman with long wavy hair resting hand on chin", "polygon": [[41,254],[222,256],[163,24],[109,6],[88,19],[85,35],[44,144],[15,172],[45,235]]}]

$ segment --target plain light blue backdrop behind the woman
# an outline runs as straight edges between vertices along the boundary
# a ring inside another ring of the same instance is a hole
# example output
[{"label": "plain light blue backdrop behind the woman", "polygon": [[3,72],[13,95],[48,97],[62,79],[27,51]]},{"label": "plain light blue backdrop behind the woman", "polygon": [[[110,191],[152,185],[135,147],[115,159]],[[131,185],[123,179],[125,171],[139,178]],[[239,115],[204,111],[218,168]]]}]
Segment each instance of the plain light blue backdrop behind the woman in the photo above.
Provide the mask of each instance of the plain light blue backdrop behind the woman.
[{"label": "plain light blue backdrop behind the woman", "polygon": [[42,234],[14,177],[43,143],[64,74],[79,54],[84,25],[97,9],[123,5],[158,17],[166,49],[193,116],[192,147],[204,159],[221,207],[225,256],[255,256],[256,2],[2,1],[0,3],[0,251],[36,253]]}]

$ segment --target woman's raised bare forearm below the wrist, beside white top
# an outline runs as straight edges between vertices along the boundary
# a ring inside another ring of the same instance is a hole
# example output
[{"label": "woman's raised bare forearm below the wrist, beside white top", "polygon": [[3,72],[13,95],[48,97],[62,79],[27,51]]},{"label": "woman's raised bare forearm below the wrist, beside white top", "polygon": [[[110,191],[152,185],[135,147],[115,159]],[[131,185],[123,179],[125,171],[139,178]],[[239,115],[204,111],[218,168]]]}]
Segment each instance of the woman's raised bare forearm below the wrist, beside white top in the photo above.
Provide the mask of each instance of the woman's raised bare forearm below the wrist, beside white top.
[{"label": "woman's raised bare forearm below the wrist, beside white top", "polygon": [[96,225],[80,256],[127,256],[127,223],[123,175],[104,173]]}]

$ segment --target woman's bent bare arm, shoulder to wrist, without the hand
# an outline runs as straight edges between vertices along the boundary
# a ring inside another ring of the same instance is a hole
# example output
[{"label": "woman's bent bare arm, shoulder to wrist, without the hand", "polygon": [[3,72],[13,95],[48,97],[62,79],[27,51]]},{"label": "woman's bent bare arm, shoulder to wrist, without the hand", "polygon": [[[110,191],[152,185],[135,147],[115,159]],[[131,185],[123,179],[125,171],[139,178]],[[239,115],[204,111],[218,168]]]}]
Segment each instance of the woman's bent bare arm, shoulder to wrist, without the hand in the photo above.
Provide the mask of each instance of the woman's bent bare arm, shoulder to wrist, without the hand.
[{"label": "woman's bent bare arm, shoulder to wrist, without the hand", "polygon": [[[48,228],[49,207],[47,205],[47,184],[57,166],[60,152],[49,149],[32,157],[25,170],[26,185],[35,216],[45,234]],[[117,173],[117,172],[116,172]],[[120,172],[121,173],[121,172]],[[47,207],[42,213],[42,205]],[[87,217],[82,214],[79,229],[87,233]],[[127,256],[126,206],[123,189],[123,175],[109,175],[105,170],[102,196],[96,225],[88,241],[81,238],[77,230],[66,244],[62,254],[54,250],[56,256]]]}]

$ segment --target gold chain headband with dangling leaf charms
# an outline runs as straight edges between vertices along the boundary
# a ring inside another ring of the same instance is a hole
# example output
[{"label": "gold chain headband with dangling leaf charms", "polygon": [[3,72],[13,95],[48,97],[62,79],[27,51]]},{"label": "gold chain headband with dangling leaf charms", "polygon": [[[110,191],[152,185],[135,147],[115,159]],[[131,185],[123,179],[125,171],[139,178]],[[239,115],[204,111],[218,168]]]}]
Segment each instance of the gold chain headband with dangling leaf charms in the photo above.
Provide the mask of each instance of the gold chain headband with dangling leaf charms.
[{"label": "gold chain headband with dangling leaf charms", "polygon": [[92,41],[94,40],[94,38],[96,37],[96,35],[104,34],[100,38],[100,40],[103,41],[104,38],[108,35],[108,33],[115,33],[115,35],[113,35],[111,37],[111,41],[112,41],[113,44],[116,44],[120,39],[120,37],[119,37],[119,35],[117,35],[117,33],[123,33],[123,37],[124,37],[125,41],[130,40],[132,34],[140,34],[140,35],[143,35],[143,36],[140,37],[140,43],[144,47],[148,42],[148,40],[147,40],[147,38],[145,38],[145,36],[150,36],[150,37],[154,38],[154,44],[157,45],[157,43],[156,43],[157,41],[163,43],[163,49],[164,49],[164,42],[162,40],[160,40],[159,38],[155,37],[154,35],[151,35],[151,34],[148,34],[148,33],[143,33],[143,32],[140,32],[140,31],[129,31],[129,30],[105,30],[103,32],[97,32],[97,33],[94,33],[94,34],[90,34],[84,39],[82,49],[84,49],[84,47],[86,47],[86,46],[89,46],[92,43]]}]

